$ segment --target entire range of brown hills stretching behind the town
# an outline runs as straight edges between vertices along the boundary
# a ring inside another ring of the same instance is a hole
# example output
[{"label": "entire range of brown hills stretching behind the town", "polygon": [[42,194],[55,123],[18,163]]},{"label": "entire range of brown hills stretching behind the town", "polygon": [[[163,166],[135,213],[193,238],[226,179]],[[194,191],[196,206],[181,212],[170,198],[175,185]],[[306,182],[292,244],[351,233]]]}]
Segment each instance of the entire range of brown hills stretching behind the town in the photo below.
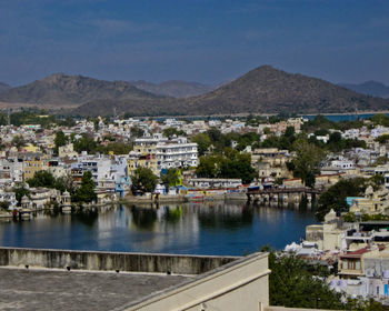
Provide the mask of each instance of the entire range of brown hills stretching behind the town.
[{"label": "entire range of brown hills stretching behind the town", "polygon": [[[179,84],[188,86],[188,82],[168,81],[167,84],[172,90]],[[259,67],[215,90],[188,98],[184,98],[187,92],[164,92],[163,96],[152,93],[159,87],[160,84],[140,81],[111,82],[57,73],[23,87],[11,88],[0,93],[0,101],[53,104],[58,109],[77,107],[70,112],[74,116],[108,116],[113,113],[113,108],[118,113],[129,112],[133,116],[389,110],[387,99],[361,94],[321,79],[288,73],[270,66]],[[177,96],[183,98],[174,98]]]}]

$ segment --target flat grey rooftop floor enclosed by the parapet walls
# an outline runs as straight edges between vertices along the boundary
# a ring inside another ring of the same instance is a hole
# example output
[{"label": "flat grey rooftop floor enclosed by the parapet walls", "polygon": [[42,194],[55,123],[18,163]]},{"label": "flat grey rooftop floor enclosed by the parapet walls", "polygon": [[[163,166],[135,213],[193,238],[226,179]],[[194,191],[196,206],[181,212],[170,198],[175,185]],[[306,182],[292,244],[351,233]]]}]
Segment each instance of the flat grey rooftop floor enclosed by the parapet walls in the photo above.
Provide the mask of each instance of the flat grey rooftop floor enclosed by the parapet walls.
[{"label": "flat grey rooftop floor enclosed by the parapet walls", "polygon": [[187,279],[0,268],[0,310],[112,310]]}]

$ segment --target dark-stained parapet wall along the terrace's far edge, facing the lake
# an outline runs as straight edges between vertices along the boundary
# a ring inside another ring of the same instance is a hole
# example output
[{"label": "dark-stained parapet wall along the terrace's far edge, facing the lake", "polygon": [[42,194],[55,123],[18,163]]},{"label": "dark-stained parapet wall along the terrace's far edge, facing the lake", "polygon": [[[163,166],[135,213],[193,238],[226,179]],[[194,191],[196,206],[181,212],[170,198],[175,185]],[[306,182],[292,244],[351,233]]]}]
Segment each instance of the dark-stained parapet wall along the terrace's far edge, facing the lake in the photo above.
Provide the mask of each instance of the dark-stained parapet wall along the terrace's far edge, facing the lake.
[{"label": "dark-stained parapet wall along the terrace's far edge, facing the lake", "polygon": [[0,248],[0,265],[93,271],[201,274],[237,259],[239,257]]}]

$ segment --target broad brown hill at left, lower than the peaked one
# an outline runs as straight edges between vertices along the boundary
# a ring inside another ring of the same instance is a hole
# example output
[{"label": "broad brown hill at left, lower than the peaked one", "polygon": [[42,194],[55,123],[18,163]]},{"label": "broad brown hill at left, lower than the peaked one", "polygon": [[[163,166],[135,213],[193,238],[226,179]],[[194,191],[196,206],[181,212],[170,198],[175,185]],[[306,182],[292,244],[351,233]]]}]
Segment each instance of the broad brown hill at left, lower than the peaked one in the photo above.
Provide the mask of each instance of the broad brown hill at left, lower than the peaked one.
[{"label": "broad brown hill at left, lower than the peaked one", "polygon": [[2,102],[50,103],[58,107],[80,106],[98,100],[132,100],[156,98],[123,81],[102,81],[82,76],[56,73],[32,83],[0,93]]}]

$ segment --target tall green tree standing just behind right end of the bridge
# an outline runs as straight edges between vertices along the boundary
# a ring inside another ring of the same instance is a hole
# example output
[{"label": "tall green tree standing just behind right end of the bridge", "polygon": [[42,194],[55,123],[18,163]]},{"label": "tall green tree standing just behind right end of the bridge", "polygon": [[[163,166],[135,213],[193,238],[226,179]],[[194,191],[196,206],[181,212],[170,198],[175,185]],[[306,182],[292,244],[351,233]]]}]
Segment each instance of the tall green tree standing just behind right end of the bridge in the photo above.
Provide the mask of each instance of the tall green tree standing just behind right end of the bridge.
[{"label": "tall green tree standing just behind right end of the bridge", "polygon": [[296,157],[292,160],[293,175],[301,178],[307,187],[315,185],[315,174],[320,173],[319,164],[326,154],[322,149],[306,139],[298,139],[293,143]]}]

